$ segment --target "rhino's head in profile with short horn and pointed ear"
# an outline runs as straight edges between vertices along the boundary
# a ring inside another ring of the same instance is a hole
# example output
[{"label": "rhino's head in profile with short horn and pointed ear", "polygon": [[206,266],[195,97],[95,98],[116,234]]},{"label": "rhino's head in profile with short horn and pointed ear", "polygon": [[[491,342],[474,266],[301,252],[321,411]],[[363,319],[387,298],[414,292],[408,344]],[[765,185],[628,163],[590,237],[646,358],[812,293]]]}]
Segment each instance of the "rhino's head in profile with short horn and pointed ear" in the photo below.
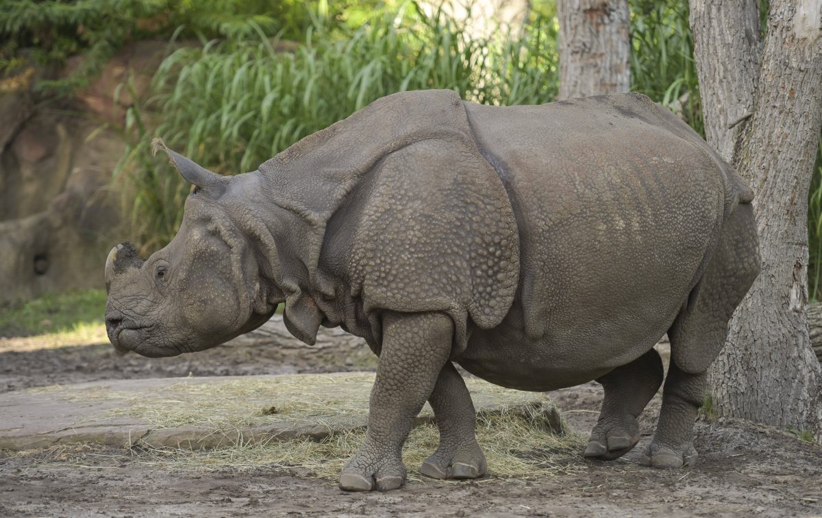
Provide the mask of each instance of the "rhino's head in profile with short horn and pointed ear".
[{"label": "rhino's head in profile with short horn and pointed ear", "polygon": [[195,186],[178,234],[145,260],[130,242],[116,245],[105,266],[109,340],[122,353],[151,357],[202,351],[248,332],[270,319],[279,298],[234,228],[236,180],[159,140],[157,149]]}]

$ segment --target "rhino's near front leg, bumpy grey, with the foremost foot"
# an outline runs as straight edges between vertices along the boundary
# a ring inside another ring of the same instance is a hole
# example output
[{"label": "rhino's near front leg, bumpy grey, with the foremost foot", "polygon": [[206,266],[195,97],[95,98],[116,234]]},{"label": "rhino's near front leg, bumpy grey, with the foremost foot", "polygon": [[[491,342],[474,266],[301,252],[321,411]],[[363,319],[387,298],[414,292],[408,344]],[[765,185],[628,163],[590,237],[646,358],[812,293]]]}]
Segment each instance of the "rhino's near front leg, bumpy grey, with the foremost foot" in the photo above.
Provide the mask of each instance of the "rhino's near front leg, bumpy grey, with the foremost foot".
[{"label": "rhino's near front leg, bumpy grey, with the foremost foot", "polygon": [[371,392],[368,429],[339,475],[347,491],[388,491],[405,483],[402,451],[451,351],[453,323],[443,314],[388,314]]}]

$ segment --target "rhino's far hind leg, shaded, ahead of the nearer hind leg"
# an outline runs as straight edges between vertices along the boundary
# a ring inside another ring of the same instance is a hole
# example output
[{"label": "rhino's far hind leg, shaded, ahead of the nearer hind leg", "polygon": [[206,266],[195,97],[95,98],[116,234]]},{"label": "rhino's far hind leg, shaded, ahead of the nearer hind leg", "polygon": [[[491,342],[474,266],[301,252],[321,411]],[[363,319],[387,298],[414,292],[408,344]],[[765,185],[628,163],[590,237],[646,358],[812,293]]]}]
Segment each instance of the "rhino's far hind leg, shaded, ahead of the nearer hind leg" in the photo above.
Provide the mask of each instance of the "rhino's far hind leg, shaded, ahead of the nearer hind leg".
[{"label": "rhino's far hind leg, shaded, ahead of the nearer hind leg", "polygon": [[663,383],[663,362],[659,353],[651,349],[597,381],[603,385],[605,397],[584,456],[612,461],[639,442],[637,418]]}]

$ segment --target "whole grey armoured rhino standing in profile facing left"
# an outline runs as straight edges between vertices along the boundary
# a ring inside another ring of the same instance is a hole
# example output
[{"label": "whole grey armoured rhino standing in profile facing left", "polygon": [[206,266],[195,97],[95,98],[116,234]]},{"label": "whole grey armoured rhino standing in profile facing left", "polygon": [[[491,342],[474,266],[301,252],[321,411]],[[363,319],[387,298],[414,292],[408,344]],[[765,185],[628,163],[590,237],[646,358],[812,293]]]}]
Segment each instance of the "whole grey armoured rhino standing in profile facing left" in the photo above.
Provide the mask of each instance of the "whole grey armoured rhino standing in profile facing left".
[{"label": "whole grey armoured rhino standing in profile facing left", "polygon": [[760,258],[743,181],[641,95],[497,108],[450,91],[390,95],[255,172],[219,176],[164,149],[196,190],[178,235],[142,261],[115,247],[109,337],[147,356],[201,351],[284,302],[295,337],[320,325],[380,356],[348,490],[404,484],[401,452],[430,401],[440,447],[423,474],[485,474],[452,362],[504,387],[596,379],[585,455],[635,446],[672,362],[644,465],[693,465],[705,371]]}]

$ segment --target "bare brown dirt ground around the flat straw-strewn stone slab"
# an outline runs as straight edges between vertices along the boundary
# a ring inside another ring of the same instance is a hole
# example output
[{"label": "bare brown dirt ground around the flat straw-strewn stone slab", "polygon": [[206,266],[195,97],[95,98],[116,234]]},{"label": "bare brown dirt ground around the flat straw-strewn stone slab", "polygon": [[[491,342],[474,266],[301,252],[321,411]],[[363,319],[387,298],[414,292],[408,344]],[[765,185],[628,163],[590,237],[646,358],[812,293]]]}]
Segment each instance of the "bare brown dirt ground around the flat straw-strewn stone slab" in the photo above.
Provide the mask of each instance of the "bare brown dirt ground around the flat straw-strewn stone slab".
[{"label": "bare brown dirt ground around the flat straw-strewn stone slab", "polygon": [[[270,345],[224,346],[157,360],[118,356],[110,346],[4,351],[0,392],[189,372],[367,369],[373,366],[370,354],[348,347],[278,351]],[[596,383],[556,391],[552,397],[575,429],[589,432],[602,401]],[[641,419],[640,446],[611,463],[585,461],[580,452],[568,452],[575,469],[553,479],[412,481],[391,493],[343,493],[327,480],[298,471],[157,467],[147,462],[145,452],[122,449],[0,452],[0,516],[822,516],[822,448],[790,433],[741,422],[700,421],[700,463],[694,469],[637,465],[658,409],[657,397]]]}]

